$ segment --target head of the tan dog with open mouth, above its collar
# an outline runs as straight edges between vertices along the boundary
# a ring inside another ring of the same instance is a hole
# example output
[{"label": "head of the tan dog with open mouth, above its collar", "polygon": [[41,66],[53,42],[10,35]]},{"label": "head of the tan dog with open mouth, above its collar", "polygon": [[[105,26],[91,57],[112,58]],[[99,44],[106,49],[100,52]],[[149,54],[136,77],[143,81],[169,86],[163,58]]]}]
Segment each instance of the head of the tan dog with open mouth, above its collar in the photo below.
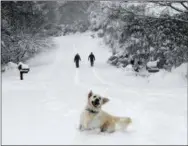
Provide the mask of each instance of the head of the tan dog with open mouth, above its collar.
[{"label": "head of the tan dog with open mouth, above its collar", "polygon": [[102,105],[109,101],[106,97],[101,97],[98,94],[94,94],[92,91],[88,93],[88,104],[93,108],[101,108]]}]

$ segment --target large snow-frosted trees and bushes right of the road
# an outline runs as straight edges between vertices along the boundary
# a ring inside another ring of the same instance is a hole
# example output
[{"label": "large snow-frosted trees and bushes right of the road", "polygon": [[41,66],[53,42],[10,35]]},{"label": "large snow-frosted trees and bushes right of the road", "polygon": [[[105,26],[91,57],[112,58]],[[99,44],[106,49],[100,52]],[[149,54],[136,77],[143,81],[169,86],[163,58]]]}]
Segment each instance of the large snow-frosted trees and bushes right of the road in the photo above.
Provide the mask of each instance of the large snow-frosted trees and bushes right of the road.
[{"label": "large snow-frosted trees and bushes right of the road", "polygon": [[[171,4],[166,4],[167,9],[176,11],[176,6],[171,7]],[[186,2],[179,4],[183,6]],[[158,67],[169,71],[188,61],[186,9],[178,9],[173,15],[169,11],[156,15],[148,13],[149,5],[151,3],[131,2],[96,2],[93,5],[90,28],[98,31],[99,37],[104,36],[104,42],[111,47],[113,56],[108,62],[112,65],[126,66],[121,55],[114,56],[118,53],[133,56],[145,66],[159,60]],[[165,2],[156,2],[156,5],[163,8]]]}]

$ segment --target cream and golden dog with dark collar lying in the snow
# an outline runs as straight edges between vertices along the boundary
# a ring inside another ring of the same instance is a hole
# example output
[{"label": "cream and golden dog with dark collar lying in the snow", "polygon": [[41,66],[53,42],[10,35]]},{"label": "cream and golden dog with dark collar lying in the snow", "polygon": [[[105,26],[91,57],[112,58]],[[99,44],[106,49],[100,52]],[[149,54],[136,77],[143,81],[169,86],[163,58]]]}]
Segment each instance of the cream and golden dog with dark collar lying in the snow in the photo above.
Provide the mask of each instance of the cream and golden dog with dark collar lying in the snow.
[{"label": "cream and golden dog with dark collar lying in the snow", "polygon": [[80,117],[80,130],[91,130],[100,128],[101,132],[114,132],[117,127],[126,129],[132,122],[129,117],[116,117],[101,109],[102,105],[109,101],[108,98],[93,94],[88,94],[88,103]]}]

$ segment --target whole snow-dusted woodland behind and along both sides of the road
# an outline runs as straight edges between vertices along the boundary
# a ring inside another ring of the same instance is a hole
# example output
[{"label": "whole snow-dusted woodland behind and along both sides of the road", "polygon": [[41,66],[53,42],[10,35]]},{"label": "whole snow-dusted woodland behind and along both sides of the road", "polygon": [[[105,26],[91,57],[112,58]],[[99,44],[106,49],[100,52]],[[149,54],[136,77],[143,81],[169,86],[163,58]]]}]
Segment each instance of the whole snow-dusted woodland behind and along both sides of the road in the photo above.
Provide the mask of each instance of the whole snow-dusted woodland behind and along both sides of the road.
[{"label": "whole snow-dusted woodland behind and along both sides of the road", "polygon": [[[148,5],[164,10],[148,13]],[[169,70],[188,61],[188,2],[1,1],[1,16],[2,64],[53,48],[52,36],[87,30],[121,58],[165,60]]]}]

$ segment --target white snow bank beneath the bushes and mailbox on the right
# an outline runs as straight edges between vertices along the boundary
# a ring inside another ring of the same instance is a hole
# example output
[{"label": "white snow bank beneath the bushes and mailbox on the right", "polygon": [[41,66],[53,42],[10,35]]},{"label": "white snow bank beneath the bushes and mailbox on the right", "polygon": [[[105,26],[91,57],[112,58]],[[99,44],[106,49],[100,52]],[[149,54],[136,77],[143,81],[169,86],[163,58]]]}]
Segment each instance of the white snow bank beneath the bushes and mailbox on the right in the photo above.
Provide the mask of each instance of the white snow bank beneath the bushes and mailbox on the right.
[{"label": "white snow bank beneath the bushes and mailbox on the right", "polygon": [[[165,88],[181,88],[187,86],[187,63],[182,64],[177,68],[173,68],[171,72],[164,69],[159,70],[157,73],[149,73],[145,68],[141,69],[139,73],[135,72],[132,65],[127,65],[122,70],[125,76],[138,77],[143,79],[145,86],[149,87],[165,87]],[[143,81],[142,80],[142,81]],[[139,81],[138,81],[139,82]]]}]

